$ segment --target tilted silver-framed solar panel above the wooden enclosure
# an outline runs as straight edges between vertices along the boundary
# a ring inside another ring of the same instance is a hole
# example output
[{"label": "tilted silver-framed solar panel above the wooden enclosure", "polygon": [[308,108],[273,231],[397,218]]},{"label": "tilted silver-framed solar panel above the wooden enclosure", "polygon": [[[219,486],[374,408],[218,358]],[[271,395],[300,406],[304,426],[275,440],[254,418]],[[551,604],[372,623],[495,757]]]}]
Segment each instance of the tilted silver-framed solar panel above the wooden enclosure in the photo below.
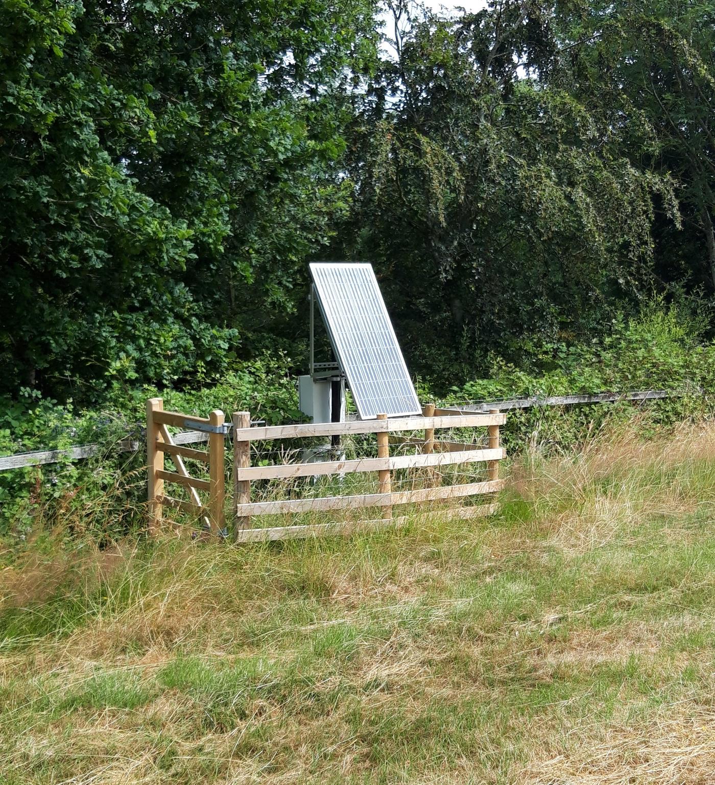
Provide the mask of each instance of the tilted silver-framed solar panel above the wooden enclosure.
[{"label": "tilted silver-framed solar panel above the wooden enclosure", "polygon": [[422,410],[372,265],[310,265],[320,311],[363,420]]}]

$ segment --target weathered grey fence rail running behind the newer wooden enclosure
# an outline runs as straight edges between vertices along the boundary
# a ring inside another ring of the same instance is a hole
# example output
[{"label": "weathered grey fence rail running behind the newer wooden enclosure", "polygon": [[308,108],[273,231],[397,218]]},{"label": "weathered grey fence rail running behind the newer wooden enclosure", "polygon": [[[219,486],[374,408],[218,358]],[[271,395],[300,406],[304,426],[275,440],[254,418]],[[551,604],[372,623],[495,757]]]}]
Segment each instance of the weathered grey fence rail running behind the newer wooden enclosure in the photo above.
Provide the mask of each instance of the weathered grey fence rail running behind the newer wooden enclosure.
[{"label": "weathered grey fence rail running behind the newer wooden enclosure", "polygon": [[[459,407],[445,407],[436,409],[435,414],[439,415],[442,412],[458,414],[461,411],[472,414],[473,412],[487,412],[490,409],[509,411],[539,406],[571,406],[577,403],[613,403],[618,400],[660,400],[670,396],[682,395],[683,392],[676,390],[641,390],[637,392],[596,392],[593,395],[515,398],[513,400],[469,403]],[[230,428],[230,426],[228,427]],[[177,433],[174,437],[176,444],[198,444],[208,440],[209,434],[202,433],[202,431]],[[116,444],[116,449],[119,452],[136,452],[143,444],[143,441],[125,439]],[[22,469],[24,466],[43,466],[44,464],[59,463],[65,460],[77,461],[82,458],[91,458],[93,455],[98,455],[103,449],[105,449],[105,446],[100,444],[81,444],[77,447],[69,447],[67,450],[46,450],[5,455],[0,457],[0,472],[9,469]]]}]

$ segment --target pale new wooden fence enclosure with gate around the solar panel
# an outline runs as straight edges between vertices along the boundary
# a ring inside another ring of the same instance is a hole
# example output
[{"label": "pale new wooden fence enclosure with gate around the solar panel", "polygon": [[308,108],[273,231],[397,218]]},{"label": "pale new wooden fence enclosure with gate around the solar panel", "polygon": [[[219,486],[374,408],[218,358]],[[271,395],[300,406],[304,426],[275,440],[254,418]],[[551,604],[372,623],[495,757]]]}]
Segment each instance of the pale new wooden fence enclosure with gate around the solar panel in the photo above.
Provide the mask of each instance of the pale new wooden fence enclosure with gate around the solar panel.
[{"label": "pale new wooden fence enclosure with gate around the solar panel", "polygon": [[[422,417],[386,418],[380,415],[374,421],[337,422],[305,425],[269,425],[251,427],[250,413],[239,411],[233,414],[232,427],[224,424],[224,414],[212,411],[208,418],[198,418],[179,412],[163,411],[161,399],[151,399],[147,404],[147,455],[148,455],[148,501],[149,527],[158,534],[162,525],[165,506],[179,509],[196,517],[201,516],[204,524],[212,531],[224,528],[224,437],[229,430],[233,434],[233,499],[232,518],[234,538],[237,542],[287,539],[319,534],[347,533],[356,526],[366,524],[385,525],[399,523],[403,517],[393,518],[393,506],[421,504],[424,502],[446,502],[451,499],[491,494],[502,488],[498,479],[498,462],[505,457],[499,446],[499,427],[505,423],[505,414],[491,411],[487,414],[443,414],[434,416],[434,405],[425,407]],[[208,450],[195,450],[177,444],[168,426],[198,429],[209,433]],[[488,447],[440,441],[435,438],[438,429],[487,428]],[[400,437],[391,434],[405,431],[423,431],[424,437]],[[290,440],[317,436],[348,436],[374,433],[378,440],[377,458],[341,459],[317,463],[282,463],[273,466],[251,466],[251,445],[264,440]],[[414,455],[390,455],[390,444],[414,445]],[[175,472],[164,469],[164,455],[169,455]],[[209,480],[188,474],[184,458],[208,465]],[[433,473],[439,466],[467,465],[477,462],[487,464],[487,480],[465,484],[439,485]],[[392,473],[397,469],[424,469],[425,487],[409,491],[392,490]],[[251,484],[260,480],[290,480],[299,477],[345,475],[349,473],[377,473],[378,493],[359,495],[336,495],[321,498],[289,498],[275,501],[252,501]],[[432,473],[432,474],[431,474]],[[168,496],[165,483],[175,483],[188,489],[191,500],[186,502]],[[208,495],[202,502],[199,491]],[[332,510],[354,510],[380,508],[381,518],[377,521],[337,521],[328,524],[254,528],[255,518],[268,515],[291,513],[326,512]],[[447,509],[448,516],[463,517],[470,511],[483,512],[482,507]]]}]

